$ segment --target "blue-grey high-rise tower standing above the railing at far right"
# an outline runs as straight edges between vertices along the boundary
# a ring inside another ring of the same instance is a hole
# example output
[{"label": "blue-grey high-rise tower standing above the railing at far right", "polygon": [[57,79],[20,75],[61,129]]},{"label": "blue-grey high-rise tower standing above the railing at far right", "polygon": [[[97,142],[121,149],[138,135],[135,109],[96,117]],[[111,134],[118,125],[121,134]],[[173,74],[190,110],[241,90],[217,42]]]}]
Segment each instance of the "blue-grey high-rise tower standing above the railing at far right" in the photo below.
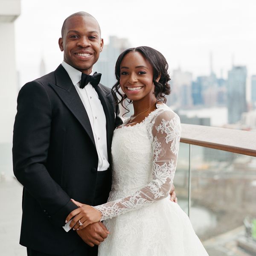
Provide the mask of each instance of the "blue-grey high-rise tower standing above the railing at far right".
[{"label": "blue-grey high-rise tower standing above the railing at far right", "polygon": [[247,111],[246,78],[245,66],[233,66],[232,70],[228,72],[227,107],[230,124],[238,122],[242,113]]}]

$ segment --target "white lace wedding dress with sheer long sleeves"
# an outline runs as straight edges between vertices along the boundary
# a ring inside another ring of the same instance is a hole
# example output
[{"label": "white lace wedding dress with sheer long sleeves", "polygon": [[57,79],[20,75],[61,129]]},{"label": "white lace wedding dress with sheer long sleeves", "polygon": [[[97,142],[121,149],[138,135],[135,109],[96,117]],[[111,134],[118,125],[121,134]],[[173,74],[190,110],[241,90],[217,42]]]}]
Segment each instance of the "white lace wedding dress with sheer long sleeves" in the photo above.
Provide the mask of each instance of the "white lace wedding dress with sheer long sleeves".
[{"label": "white lace wedding dress with sheer long sleeves", "polygon": [[158,104],[141,123],[122,125],[112,142],[108,203],[96,206],[110,235],[99,256],[207,256],[188,216],[169,200],[180,119]]}]

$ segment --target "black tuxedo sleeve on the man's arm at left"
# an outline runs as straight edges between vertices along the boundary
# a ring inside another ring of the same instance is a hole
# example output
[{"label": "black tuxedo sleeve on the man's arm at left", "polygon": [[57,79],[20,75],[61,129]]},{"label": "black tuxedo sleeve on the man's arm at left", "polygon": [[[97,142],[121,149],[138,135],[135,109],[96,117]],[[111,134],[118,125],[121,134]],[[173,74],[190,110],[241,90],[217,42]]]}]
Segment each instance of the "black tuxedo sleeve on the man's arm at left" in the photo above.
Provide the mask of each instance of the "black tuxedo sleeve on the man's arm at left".
[{"label": "black tuxedo sleeve on the man's arm at left", "polygon": [[15,177],[57,226],[76,209],[66,192],[47,171],[52,107],[46,89],[37,81],[25,84],[17,98],[13,131]]}]

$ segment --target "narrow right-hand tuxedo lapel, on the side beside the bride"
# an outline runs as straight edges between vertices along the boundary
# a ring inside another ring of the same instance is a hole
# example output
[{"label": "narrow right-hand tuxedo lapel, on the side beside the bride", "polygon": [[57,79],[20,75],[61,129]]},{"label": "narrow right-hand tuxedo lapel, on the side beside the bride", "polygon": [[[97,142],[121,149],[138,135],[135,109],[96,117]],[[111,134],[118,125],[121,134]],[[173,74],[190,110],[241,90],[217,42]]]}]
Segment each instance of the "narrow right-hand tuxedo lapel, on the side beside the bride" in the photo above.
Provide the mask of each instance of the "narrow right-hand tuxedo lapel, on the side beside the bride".
[{"label": "narrow right-hand tuxedo lapel, on the side beside the bride", "polygon": [[103,110],[104,110],[104,113],[105,113],[105,116],[106,116],[107,146],[108,146],[108,155],[110,155],[110,153],[111,153],[112,133],[113,133],[113,129],[114,129],[113,107],[112,107],[111,102],[109,102],[109,100],[108,100],[106,94],[104,93],[100,84],[96,87],[95,90],[98,93],[100,102],[102,104],[102,107],[103,107]]}]

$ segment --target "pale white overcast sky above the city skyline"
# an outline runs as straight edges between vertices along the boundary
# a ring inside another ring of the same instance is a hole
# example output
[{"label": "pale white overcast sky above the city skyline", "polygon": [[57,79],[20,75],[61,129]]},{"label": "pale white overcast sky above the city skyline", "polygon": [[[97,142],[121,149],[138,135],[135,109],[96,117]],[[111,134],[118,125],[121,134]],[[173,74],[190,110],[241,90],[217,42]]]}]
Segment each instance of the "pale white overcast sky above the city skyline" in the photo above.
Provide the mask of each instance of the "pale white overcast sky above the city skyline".
[{"label": "pale white overcast sky above the city skyline", "polygon": [[180,67],[194,79],[207,75],[212,52],[218,76],[222,69],[227,77],[232,55],[234,64],[256,74],[255,0],[21,0],[15,21],[21,84],[39,76],[41,58],[47,73],[61,63],[61,26],[78,11],[98,20],[105,44],[116,35],[128,38],[132,47],[146,45],[162,52],[170,73]]}]

